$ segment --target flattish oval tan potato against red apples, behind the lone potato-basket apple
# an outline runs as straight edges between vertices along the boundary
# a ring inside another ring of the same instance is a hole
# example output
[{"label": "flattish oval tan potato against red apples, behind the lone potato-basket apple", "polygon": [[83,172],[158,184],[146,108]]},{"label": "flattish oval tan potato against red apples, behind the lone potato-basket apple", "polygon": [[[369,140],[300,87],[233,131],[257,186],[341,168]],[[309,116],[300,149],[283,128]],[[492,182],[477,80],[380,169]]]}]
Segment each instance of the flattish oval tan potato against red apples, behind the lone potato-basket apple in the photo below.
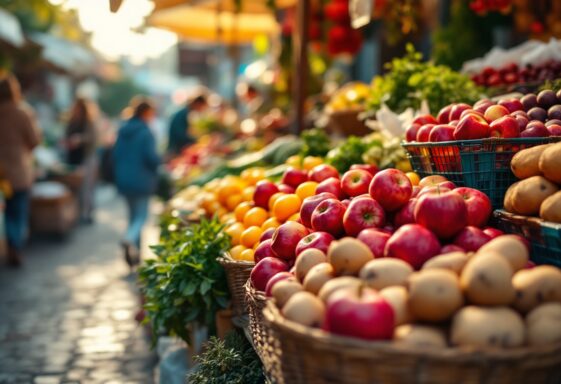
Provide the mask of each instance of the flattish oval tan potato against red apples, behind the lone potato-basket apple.
[{"label": "flattish oval tan potato against red apples, behind the lone potato-basket apple", "polygon": [[409,263],[386,257],[370,260],[362,267],[358,276],[369,287],[379,290],[392,285],[405,285],[412,273],[413,268]]}]

